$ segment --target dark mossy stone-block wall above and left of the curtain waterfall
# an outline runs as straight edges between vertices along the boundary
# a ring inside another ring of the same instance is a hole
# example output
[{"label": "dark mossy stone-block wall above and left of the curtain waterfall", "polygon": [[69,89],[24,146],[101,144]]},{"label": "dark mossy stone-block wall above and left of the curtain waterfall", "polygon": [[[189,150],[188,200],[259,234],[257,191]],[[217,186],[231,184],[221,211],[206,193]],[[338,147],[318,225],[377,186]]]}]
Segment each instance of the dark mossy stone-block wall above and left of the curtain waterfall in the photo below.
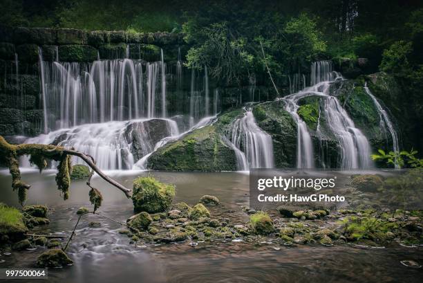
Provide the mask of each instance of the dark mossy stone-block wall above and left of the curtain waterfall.
[{"label": "dark mossy stone-block wall above and left of the curtain waterfall", "polygon": [[0,135],[35,136],[43,129],[39,55],[44,61],[93,62],[99,57],[176,62],[182,35],[0,27]]}]

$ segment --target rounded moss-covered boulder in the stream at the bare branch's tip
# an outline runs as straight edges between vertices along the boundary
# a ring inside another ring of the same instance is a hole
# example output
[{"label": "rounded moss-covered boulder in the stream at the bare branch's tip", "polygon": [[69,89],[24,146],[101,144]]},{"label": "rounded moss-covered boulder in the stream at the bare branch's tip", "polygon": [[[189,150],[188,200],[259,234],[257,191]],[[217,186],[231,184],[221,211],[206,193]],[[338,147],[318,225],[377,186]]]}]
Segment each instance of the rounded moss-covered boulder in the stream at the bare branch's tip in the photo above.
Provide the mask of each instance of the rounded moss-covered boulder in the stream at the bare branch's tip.
[{"label": "rounded moss-covered boulder in the stream at the bare branch's tip", "polygon": [[164,212],[175,197],[175,185],[160,183],[152,176],[133,181],[133,210],[135,212]]}]

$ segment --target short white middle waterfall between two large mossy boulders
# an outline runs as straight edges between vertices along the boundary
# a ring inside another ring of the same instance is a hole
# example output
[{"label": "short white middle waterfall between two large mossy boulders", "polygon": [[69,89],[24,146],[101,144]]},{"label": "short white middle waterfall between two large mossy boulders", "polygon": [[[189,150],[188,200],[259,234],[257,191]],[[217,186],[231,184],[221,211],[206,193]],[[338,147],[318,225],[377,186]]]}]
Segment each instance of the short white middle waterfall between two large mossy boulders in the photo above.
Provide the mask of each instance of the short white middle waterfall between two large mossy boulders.
[{"label": "short white middle waterfall between two large mossy boulders", "polygon": [[[274,167],[272,137],[257,126],[251,110],[247,110],[243,118],[232,122],[230,141],[245,154],[250,168]],[[245,170],[245,161],[238,155],[237,159],[238,170]]]}]

